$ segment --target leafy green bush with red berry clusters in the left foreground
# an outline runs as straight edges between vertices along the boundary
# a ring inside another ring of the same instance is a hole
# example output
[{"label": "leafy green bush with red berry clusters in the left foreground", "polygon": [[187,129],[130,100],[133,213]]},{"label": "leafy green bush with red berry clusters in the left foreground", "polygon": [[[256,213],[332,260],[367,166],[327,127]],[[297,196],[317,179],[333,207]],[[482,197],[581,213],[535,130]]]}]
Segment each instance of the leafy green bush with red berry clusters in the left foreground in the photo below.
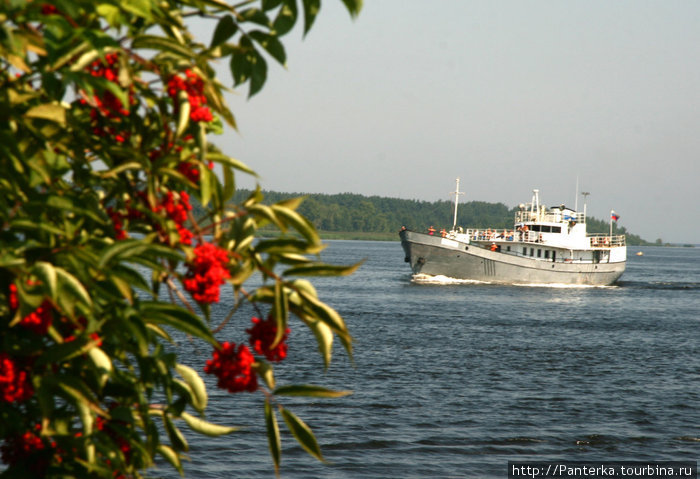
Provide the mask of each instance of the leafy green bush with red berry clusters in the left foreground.
[{"label": "leafy green bush with red berry clusters in the left foreground", "polygon": [[[361,6],[343,3],[352,15]],[[189,445],[180,424],[234,433],[205,419],[206,387],[178,361],[178,334],[213,348],[205,371],[220,387],[261,393],[276,471],[273,406],[322,457],[281,399],[346,392],[277,386],[272,363],[286,355],[292,317],[318,339],[326,366],[334,338],[351,354],[343,319],[303,277],[354,267],[318,261],[322,244],[299,201],[263,204],[255,191],[232,203],[235,173],[253,171],[209,142],[222,122],[235,127],[211,63],[227,61],[235,86],[258,93],[268,59],[287,60],[280,37],[299,17],[307,33],[319,8],[319,0],[2,3],[4,475],[141,477],[157,456],[182,473]],[[189,32],[191,17],[210,22],[206,43]],[[256,243],[263,227],[277,233]],[[255,273],[262,285],[249,290]],[[236,301],[223,321],[210,315],[221,287]],[[262,317],[250,347],[220,341],[217,331],[246,302]]]}]

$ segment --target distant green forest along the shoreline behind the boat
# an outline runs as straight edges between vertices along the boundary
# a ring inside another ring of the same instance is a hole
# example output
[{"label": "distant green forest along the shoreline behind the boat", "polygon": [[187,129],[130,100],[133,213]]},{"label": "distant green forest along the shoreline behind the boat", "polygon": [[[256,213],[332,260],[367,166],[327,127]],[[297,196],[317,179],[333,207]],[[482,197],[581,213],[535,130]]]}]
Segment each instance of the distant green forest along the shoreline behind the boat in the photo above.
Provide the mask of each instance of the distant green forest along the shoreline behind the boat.
[{"label": "distant green forest along the shoreline behind the boat", "polygon": [[[234,201],[240,203],[251,194],[249,190],[238,190]],[[380,196],[363,196],[354,193],[303,194],[263,191],[264,203],[272,204],[289,198],[304,196],[306,199],[299,212],[306,216],[316,228],[328,237],[357,237],[394,239],[402,226],[408,229],[424,230],[429,226],[449,229],[454,216],[451,201],[418,201]],[[457,225],[474,228],[513,227],[516,207],[508,208],[503,203],[469,201],[460,203],[457,210]],[[607,233],[607,221],[588,217],[589,233]],[[351,235],[348,235],[351,234]],[[615,234],[627,236],[627,244],[650,244],[637,235],[630,234],[624,226],[616,226]],[[398,238],[398,235],[396,236]]]}]

